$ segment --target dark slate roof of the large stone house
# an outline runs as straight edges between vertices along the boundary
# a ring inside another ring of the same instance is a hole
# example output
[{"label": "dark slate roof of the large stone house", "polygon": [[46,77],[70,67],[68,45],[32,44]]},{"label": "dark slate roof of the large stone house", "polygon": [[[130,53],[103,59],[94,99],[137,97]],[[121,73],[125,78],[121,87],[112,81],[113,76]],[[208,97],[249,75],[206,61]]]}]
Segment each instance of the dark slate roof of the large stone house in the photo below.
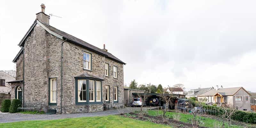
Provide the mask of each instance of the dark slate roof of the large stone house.
[{"label": "dark slate roof of the large stone house", "polygon": [[[126,64],[124,63],[122,60],[118,59],[117,57],[115,57],[114,55],[112,55],[111,53],[109,52],[105,52],[103,51],[102,49],[96,47],[96,46],[93,46],[92,44],[89,44],[79,38],[76,38],[75,36],[72,36],[72,35],[69,35],[68,33],[65,33],[57,28],[54,28],[52,26],[50,26],[49,24],[46,24],[44,22],[41,22],[40,20],[35,20],[35,22],[33,23],[33,25],[29,28],[28,32],[26,33],[26,35],[22,38],[22,40],[20,41],[19,45],[22,46],[24,44],[24,39],[26,38],[26,36],[28,35],[28,33],[31,31],[31,29],[35,26],[36,22],[40,22],[41,24],[43,24],[44,27],[46,27],[47,29],[49,29],[50,31],[56,33],[57,35],[60,35],[63,37],[63,39],[67,39],[67,41],[69,41],[70,43],[74,43],[74,44],[77,44],[77,45],[80,45],[80,46],[84,46],[88,49],[90,49],[91,51],[93,52],[97,52],[101,55],[104,55],[106,56],[107,58],[109,59],[112,59],[112,60],[115,60],[119,63],[122,63],[122,64]],[[20,53],[19,53],[20,54]],[[18,55],[17,55],[18,56]],[[15,58],[16,59],[16,58]],[[13,62],[15,61],[15,59],[13,60]]]}]

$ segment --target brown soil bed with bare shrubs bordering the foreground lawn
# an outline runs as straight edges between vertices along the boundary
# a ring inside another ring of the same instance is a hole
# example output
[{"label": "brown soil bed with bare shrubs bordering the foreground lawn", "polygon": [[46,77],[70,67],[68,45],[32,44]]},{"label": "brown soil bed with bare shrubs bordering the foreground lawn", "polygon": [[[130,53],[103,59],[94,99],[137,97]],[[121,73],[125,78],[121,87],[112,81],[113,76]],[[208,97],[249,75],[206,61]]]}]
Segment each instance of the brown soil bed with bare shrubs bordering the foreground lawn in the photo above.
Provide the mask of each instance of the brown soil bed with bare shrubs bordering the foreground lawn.
[{"label": "brown soil bed with bare shrubs bordering the foreground lawn", "polygon": [[[176,121],[171,118],[169,119],[168,122],[164,122],[163,117],[159,117],[159,116],[145,115],[144,118],[140,118],[140,117],[138,117],[138,114],[135,114],[135,113],[129,113],[129,114],[124,114],[124,115],[120,115],[120,116],[137,119],[137,120],[150,121],[150,122],[156,123],[156,124],[170,125],[174,128],[192,128],[192,124]],[[199,126],[199,128],[207,128],[207,127]]]}]

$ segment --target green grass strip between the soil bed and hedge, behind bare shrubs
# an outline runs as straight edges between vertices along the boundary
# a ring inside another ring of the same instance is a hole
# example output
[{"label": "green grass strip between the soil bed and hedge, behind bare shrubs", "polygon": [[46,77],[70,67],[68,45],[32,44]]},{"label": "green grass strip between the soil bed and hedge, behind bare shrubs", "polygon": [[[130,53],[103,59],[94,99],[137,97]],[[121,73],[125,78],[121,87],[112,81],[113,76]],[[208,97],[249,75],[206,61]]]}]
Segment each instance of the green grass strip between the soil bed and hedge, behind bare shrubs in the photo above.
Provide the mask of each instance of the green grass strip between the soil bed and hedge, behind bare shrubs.
[{"label": "green grass strip between the soil bed and hedge, behind bare shrubs", "polygon": [[[163,114],[163,111],[159,111],[159,114]],[[175,114],[175,112],[167,112],[166,113],[166,116],[169,116],[170,115],[170,118],[172,118],[172,115]],[[157,111],[156,110],[148,110],[148,115],[149,116],[157,116]],[[181,122],[184,122],[184,123],[191,123],[189,121],[190,118],[193,117],[193,115],[190,115],[190,114],[183,114],[183,113],[180,113],[180,121]],[[203,123],[200,123],[200,126],[205,126],[205,127],[210,127],[212,128],[213,127],[213,122],[218,122],[218,123],[221,123],[220,121],[217,121],[217,120],[214,120],[214,119],[211,119],[211,118],[204,118],[204,117],[201,117],[202,118],[202,122]],[[205,119],[205,120],[204,120]],[[228,127],[228,124],[225,124],[225,127]],[[231,126],[230,128],[244,128],[242,126]]]}]

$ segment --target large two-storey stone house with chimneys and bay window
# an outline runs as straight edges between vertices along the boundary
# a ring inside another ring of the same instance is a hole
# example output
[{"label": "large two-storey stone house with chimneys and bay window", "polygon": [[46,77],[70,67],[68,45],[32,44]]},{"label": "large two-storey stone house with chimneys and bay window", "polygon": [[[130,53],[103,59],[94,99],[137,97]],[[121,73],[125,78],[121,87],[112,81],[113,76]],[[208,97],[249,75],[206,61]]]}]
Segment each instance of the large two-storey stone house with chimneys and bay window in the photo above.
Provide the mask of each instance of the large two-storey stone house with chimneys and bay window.
[{"label": "large two-storey stone house with chimneys and bay window", "polygon": [[[42,11],[19,43],[11,99],[42,104],[57,113],[103,111],[124,105],[125,63],[108,52],[49,25]],[[65,21],[63,21],[65,22]]]}]

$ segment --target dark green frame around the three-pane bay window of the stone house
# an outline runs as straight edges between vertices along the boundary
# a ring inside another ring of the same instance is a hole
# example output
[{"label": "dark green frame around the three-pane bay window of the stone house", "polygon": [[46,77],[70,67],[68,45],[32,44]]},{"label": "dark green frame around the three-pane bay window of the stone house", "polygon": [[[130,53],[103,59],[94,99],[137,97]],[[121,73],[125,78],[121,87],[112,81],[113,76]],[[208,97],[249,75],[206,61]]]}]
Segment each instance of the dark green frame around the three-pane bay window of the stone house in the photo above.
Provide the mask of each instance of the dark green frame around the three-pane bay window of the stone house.
[{"label": "dark green frame around the three-pane bay window of the stone house", "polygon": [[[78,80],[86,80],[86,102],[78,102]],[[90,102],[89,99],[89,80],[94,81],[94,99]],[[96,81],[100,82],[100,101],[96,101]],[[88,77],[75,77],[75,104],[76,105],[87,105],[87,104],[102,104],[102,80],[92,79]]]}]

